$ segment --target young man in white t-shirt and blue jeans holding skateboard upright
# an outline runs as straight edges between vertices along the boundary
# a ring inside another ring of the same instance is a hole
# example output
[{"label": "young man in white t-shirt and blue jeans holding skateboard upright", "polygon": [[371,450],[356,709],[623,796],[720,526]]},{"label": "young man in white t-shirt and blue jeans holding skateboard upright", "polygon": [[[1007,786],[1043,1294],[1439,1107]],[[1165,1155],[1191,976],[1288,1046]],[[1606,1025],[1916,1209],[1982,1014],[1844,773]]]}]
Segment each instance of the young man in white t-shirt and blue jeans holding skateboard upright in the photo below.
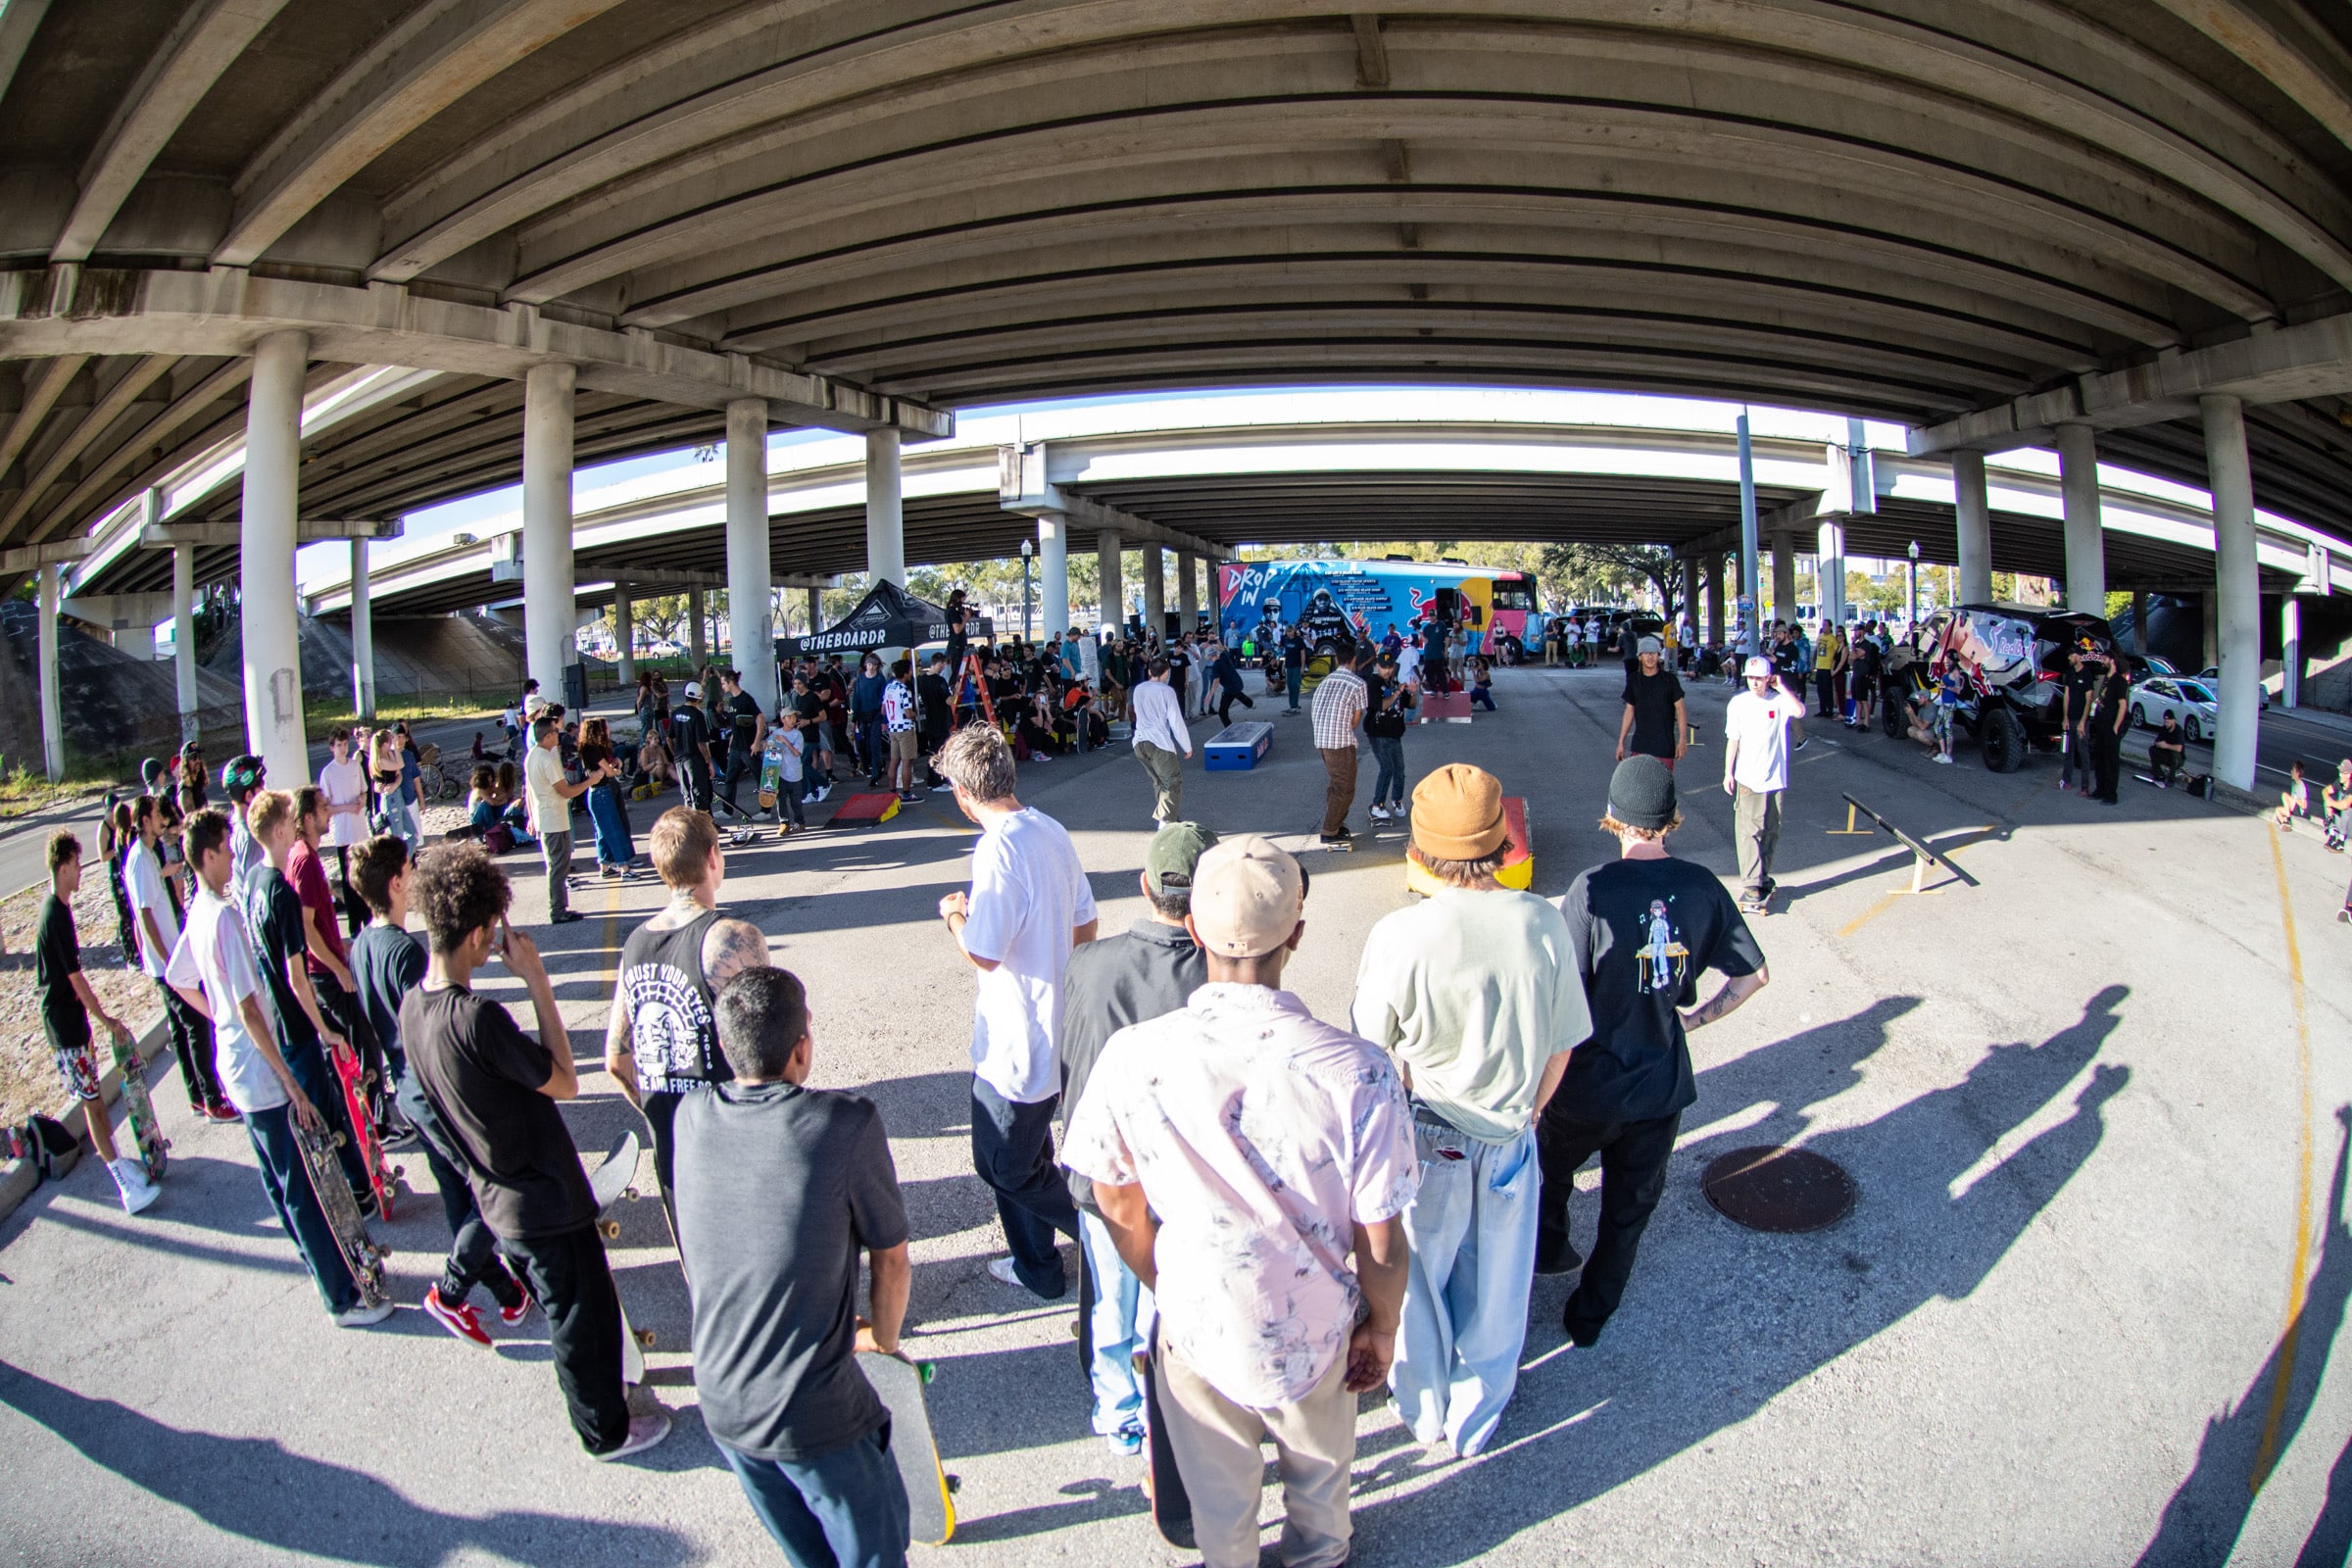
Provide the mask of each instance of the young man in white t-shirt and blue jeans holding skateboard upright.
[{"label": "young man in white t-shirt and blue jeans holding skateboard upright", "polygon": [[367,1305],[360,1281],[343,1262],[343,1246],[320,1208],[310,1175],[303,1171],[301,1150],[294,1143],[294,1124],[322,1128],[318,1105],[285,1056],[261,1006],[261,971],[254,964],[252,938],[245,933],[242,912],[228,900],[235,865],[228,851],[228,816],[221,811],[198,811],[188,818],[188,865],[195,867],[195,905],[188,910],[188,926],[172,947],[165,978],[172,990],[212,1025],[214,1067],[221,1074],[221,1093],[245,1117],[245,1135],[254,1143],[254,1164],[261,1168],[261,1190],[278,1211],[278,1225],[303,1267],[310,1284],[334,1316],[336,1328],[367,1328],[393,1314],[393,1302]]}]

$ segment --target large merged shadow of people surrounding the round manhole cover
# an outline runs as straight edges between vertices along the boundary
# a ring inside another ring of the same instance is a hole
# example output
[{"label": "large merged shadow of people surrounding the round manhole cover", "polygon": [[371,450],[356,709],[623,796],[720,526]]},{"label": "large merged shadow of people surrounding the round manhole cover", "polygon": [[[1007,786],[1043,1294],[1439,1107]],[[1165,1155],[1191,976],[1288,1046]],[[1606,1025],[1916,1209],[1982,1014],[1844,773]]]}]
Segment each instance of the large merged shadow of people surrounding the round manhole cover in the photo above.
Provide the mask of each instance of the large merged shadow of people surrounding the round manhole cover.
[{"label": "large merged shadow of people surrounding the round manhole cover", "polygon": [[[1559,1349],[1552,1314],[1564,1281],[1538,1281],[1529,1371],[1496,1448],[1439,1467],[1435,1486],[1404,1488],[1430,1474],[1409,1462],[1359,1486],[1359,1561],[1475,1561],[1748,1420],[1919,1307],[1973,1293],[2091,1159],[2103,1107],[2129,1070],[2098,1067],[2070,1117],[2009,1152],[1962,1197],[1950,1197],[1952,1185],[2091,1065],[2117,1027],[2124,994],[2098,992],[2079,1023],[2042,1044],[1990,1046],[1962,1084],[1863,1126],[1806,1138],[1860,1187],[1856,1215],[1828,1232],[1740,1232],[1705,1208],[1696,1173],[1731,1147],[1804,1131],[1806,1112],[1853,1081],[1856,1065],[1884,1044],[1886,1023],[1912,1001],[1879,1001],[1700,1074],[1691,1119],[1738,1117],[1757,1103],[1771,1112],[1677,1152],[1651,1246],[1599,1347]],[[1592,1197],[1573,1208],[1592,1222]],[[1693,1258],[1693,1248],[1705,1255]]]}]

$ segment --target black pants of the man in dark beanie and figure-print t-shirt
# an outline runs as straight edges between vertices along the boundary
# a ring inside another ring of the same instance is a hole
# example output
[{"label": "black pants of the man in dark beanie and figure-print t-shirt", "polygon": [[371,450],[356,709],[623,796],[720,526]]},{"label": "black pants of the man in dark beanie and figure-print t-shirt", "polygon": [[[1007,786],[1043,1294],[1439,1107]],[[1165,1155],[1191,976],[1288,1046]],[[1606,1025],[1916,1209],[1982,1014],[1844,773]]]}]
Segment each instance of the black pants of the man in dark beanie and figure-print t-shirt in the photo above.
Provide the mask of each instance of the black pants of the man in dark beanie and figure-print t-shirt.
[{"label": "black pants of the man in dark beanie and figure-print t-shirt", "polygon": [[[1555,1098],[1552,1105],[1559,1105]],[[1543,1171],[1543,1192],[1536,1199],[1536,1269],[1557,1272],[1569,1251],[1569,1192],[1576,1171],[1595,1154],[1602,1157],[1602,1227],[1585,1258],[1583,1279],[1562,1314],[1569,1338],[1592,1345],[1602,1338],[1602,1324],[1625,1300],[1625,1279],[1632,1274],[1635,1251],[1649,1215],[1665,1192],[1665,1164],[1675,1154],[1675,1133],[1682,1114],[1649,1121],[1578,1121],[1545,1107],[1536,1121],[1536,1159]]]}]

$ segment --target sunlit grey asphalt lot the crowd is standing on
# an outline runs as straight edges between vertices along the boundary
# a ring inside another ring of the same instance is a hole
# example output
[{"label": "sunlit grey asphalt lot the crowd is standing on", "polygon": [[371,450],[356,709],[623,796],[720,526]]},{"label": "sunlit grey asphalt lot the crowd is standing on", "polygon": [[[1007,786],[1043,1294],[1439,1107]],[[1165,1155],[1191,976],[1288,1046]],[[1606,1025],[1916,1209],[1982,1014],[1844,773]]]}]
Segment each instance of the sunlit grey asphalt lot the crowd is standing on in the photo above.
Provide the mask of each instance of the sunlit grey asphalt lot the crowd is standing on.
[{"label": "sunlit grey asphalt lot the crowd is standing on", "polygon": [[[1613,851],[1595,818],[1616,675],[1508,670],[1498,693],[1475,724],[1414,729],[1406,759],[1416,778],[1479,762],[1526,795],[1536,889],[1557,893]],[[1724,696],[1691,693],[1675,849],[1729,875]],[[1322,771],[1308,722],[1272,722],[1256,771],[1185,773],[1188,813],[1305,844]],[[2333,914],[2352,865],[2317,835],[2129,778],[2100,806],[2060,795],[2046,759],[1994,776],[1816,733],[1759,933],[1771,985],[1693,1034],[1700,1098],[1623,1312],[1573,1349],[1569,1281],[1536,1281],[1519,1394],[1479,1460],[1423,1450],[1367,1401],[1355,1563],[2343,1561],[2352,929]],[[1058,759],[1025,766],[1021,792],[1073,827],[1122,929],[1141,912],[1143,771],[1124,750]],[[1832,835],[1842,792],[1976,886],[1898,891],[1907,851]],[[1402,835],[1355,820],[1357,853],[1303,856],[1291,980],[1327,1018],[1367,929],[1404,900]],[[727,886],[811,985],[814,1081],[873,1095],[891,1128],[915,1229],[908,1349],[938,1363],[931,1415],[962,1479],[955,1542],[917,1561],[1192,1561],[1155,1537],[1141,1462],[1089,1432],[1075,1284],[1040,1305],[985,1274],[1002,1239],[969,1175],[971,976],[934,914],[967,846],[934,797],[884,827],[734,851]],[[513,865],[517,917],[536,922],[532,863]],[[595,919],[548,938],[583,1067],[619,940],[656,898],[593,889]],[[614,1262],[659,1335],[644,1394],[680,1425],[604,1467],[562,1420],[536,1316],[482,1352],[414,1309],[447,1244],[428,1194],[379,1227],[409,1309],[336,1331],[242,1133],[193,1128],[179,1103],[158,1088],[176,1143],[146,1215],[85,1164],[0,1222],[0,1552],[776,1561],[694,1418],[684,1286],[649,1204],[623,1206]],[[590,1159],[628,1121],[595,1072],[567,1117]],[[1717,1215],[1708,1159],[1764,1143],[1839,1161],[1853,1213],[1797,1237]],[[1590,1194],[1573,1222],[1588,1241]]]}]

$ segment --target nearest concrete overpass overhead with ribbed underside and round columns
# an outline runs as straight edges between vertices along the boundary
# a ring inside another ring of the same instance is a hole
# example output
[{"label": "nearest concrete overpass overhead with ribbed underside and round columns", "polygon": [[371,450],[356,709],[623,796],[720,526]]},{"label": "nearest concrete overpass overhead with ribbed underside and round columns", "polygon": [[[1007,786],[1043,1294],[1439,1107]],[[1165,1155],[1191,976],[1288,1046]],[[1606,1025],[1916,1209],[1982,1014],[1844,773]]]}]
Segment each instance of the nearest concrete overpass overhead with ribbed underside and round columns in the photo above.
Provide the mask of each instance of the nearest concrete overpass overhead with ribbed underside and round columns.
[{"label": "nearest concrete overpass overhead with ribbed underside and round columns", "polygon": [[[242,425],[193,522],[238,524],[252,743],[292,762],[306,520],[520,475],[546,677],[581,451],[724,440],[762,604],[771,423],[868,437],[889,576],[898,440],[955,407],[1663,390],[1959,454],[1969,583],[1973,451],[2065,447],[2086,599],[2093,444],[2211,468],[2251,776],[2253,496],[2352,541],[2347,38],[2305,0],[9,0],[0,571]],[[419,381],[306,440],[381,364]]]}]

